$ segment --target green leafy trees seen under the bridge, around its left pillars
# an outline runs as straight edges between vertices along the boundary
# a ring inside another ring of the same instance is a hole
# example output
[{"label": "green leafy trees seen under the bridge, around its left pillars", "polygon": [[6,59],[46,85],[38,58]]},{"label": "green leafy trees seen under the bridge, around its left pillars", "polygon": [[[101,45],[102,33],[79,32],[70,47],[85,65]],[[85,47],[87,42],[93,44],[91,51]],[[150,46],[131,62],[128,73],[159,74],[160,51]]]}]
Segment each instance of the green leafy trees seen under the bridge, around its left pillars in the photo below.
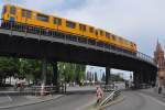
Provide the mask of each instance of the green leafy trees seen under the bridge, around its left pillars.
[{"label": "green leafy trees seen under the bridge, around its left pillars", "polygon": [[[67,82],[76,81],[80,84],[80,80],[85,78],[85,65],[58,63],[59,78]],[[41,80],[41,61],[28,59],[28,58],[15,58],[15,57],[0,57],[0,80],[7,77],[26,78],[33,82]],[[47,82],[53,80],[53,66],[47,65]]]}]

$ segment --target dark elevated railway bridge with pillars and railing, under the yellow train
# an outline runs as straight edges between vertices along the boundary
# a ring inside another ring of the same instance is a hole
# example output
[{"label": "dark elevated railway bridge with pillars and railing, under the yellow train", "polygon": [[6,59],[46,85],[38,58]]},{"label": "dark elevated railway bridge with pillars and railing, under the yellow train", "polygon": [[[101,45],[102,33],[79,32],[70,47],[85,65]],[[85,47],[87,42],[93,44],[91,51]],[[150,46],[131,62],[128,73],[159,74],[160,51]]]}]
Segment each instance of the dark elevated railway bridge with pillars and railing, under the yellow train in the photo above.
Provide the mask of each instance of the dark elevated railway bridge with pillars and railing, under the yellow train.
[{"label": "dark elevated railway bridge with pillars and railing, under the yellow train", "polygon": [[156,80],[157,66],[152,57],[143,53],[133,55],[87,37],[59,31],[51,33],[35,25],[25,25],[8,22],[0,28],[0,55],[42,59],[44,84],[47,64],[52,63],[54,85],[57,85],[57,62],[106,67],[106,84],[109,84],[110,68],[133,72],[135,87]]}]

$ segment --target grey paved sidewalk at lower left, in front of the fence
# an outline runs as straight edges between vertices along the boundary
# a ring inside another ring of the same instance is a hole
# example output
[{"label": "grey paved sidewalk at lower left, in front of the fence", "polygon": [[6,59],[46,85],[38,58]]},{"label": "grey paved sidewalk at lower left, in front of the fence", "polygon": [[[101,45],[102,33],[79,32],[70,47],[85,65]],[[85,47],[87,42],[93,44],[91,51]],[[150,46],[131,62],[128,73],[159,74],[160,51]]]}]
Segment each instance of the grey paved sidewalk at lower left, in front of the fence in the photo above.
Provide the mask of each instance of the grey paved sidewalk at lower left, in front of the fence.
[{"label": "grey paved sidewalk at lower left, in front of the fence", "polygon": [[35,97],[35,96],[11,96],[10,97],[10,96],[7,96],[9,98],[9,101],[1,102],[0,109],[41,103],[41,102],[58,99],[63,96],[64,95],[53,95],[53,96],[48,95],[48,96],[43,96],[43,97]]}]

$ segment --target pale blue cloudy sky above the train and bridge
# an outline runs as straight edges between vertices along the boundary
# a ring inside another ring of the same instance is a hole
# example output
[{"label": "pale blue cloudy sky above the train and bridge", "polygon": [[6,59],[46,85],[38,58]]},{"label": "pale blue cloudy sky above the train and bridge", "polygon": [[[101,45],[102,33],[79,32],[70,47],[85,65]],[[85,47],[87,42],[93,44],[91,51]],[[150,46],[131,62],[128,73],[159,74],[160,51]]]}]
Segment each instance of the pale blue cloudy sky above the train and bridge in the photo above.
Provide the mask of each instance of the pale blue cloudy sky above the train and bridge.
[{"label": "pale blue cloudy sky above the train and bridge", "polygon": [[4,3],[105,29],[135,42],[150,56],[157,38],[165,46],[165,0],[0,0],[0,10]]}]

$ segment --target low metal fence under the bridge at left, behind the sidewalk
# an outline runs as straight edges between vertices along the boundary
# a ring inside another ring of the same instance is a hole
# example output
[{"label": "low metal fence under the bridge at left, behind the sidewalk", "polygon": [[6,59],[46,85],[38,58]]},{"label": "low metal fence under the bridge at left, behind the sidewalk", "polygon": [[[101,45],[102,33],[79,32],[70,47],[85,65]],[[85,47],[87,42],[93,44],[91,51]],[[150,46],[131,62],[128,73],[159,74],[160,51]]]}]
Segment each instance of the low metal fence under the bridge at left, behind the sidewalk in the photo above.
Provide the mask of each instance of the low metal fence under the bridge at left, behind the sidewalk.
[{"label": "low metal fence under the bridge at left, behind the sidewalk", "polygon": [[55,95],[55,94],[66,94],[64,86],[19,86],[12,88],[6,88],[6,91],[0,91],[0,96],[44,96],[44,95]]}]

